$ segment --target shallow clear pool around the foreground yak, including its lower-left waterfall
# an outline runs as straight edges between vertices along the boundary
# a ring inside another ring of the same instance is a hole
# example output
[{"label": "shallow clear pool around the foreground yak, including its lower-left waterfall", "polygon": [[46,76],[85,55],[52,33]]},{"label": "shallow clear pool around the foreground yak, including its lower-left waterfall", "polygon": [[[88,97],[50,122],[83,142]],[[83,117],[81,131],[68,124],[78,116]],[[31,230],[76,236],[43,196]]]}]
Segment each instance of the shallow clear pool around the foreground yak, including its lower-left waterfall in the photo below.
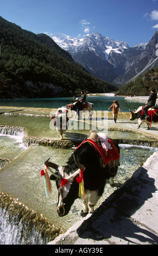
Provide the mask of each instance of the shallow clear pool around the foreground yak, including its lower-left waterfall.
[{"label": "shallow clear pool around the foreground yak, including its lower-left waterfall", "polygon": [[[42,145],[30,145],[26,148],[22,147],[19,137],[22,138],[22,136],[14,135],[1,135],[0,137],[2,156],[4,159],[10,160],[10,163],[6,163],[0,171],[1,190],[7,191],[13,197],[16,195],[15,201],[8,199],[7,204],[4,204],[4,197],[1,197],[0,233],[3,238],[0,239],[0,244],[46,244],[60,232],[65,232],[76,221],[81,220],[82,202],[80,199],[75,200],[67,216],[62,218],[57,216],[56,200],[58,191],[56,186],[53,182],[53,192],[49,199],[46,198],[44,180],[40,176],[40,170],[44,166],[43,162],[48,157],[51,157],[52,161],[64,165],[74,149],[55,149]],[[3,147],[6,140],[9,148],[11,147],[10,154]],[[121,147],[121,166],[118,168],[115,177],[115,186],[111,187],[110,182],[107,182],[103,196],[97,206],[128,180],[132,173],[157,150],[151,147],[128,144],[119,144],[119,146]],[[20,198],[20,202],[18,198]],[[26,206],[33,210],[23,213]],[[19,213],[19,208],[24,210],[21,209],[22,212]],[[32,211],[36,212],[34,217],[31,217]],[[48,221],[45,221],[45,218],[44,220],[37,218],[39,212],[42,216],[47,216]],[[23,218],[23,216],[28,216],[28,218]],[[43,225],[43,222],[45,225]],[[52,227],[54,226],[53,231],[50,229],[49,232],[43,234],[45,230],[48,230],[47,226],[50,226],[47,222],[50,222]],[[42,228],[39,227],[40,223],[42,223]]]}]

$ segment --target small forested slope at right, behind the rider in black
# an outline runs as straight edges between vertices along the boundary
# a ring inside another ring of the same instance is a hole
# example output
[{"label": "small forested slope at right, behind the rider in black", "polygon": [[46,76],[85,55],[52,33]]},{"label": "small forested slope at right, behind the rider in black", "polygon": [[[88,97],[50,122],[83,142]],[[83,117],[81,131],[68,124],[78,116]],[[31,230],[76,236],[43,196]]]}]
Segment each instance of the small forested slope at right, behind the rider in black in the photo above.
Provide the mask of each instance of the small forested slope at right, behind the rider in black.
[{"label": "small forested slope at right, behind the rider in black", "polygon": [[158,92],[158,68],[148,70],[143,76],[138,76],[135,81],[130,81],[116,93],[123,96],[148,96],[150,90],[155,88]]}]

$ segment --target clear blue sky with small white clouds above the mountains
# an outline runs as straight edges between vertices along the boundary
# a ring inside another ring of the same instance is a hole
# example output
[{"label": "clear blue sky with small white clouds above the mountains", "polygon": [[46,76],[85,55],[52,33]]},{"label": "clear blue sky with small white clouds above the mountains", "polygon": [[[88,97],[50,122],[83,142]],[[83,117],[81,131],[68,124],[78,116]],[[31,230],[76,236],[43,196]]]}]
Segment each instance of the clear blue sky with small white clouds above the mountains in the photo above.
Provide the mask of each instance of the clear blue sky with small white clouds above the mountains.
[{"label": "clear blue sky with small white clouds above the mountains", "polygon": [[0,16],[35,34],[99,32],[131,47],[158,29],[158,0],[1,0]]}]

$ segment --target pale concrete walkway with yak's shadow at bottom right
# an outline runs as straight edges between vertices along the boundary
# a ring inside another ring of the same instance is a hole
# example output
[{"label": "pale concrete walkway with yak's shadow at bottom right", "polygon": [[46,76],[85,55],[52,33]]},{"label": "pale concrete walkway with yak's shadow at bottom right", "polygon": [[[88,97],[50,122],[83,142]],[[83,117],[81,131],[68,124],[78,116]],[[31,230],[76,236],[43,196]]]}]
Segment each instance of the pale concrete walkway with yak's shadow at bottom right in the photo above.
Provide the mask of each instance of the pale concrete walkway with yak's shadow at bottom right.
[{"label": "pale concrete walkway with yak's shadow at bottom right", "polygon": [[158,151],[92,215],[49,245],[157,245]]}]

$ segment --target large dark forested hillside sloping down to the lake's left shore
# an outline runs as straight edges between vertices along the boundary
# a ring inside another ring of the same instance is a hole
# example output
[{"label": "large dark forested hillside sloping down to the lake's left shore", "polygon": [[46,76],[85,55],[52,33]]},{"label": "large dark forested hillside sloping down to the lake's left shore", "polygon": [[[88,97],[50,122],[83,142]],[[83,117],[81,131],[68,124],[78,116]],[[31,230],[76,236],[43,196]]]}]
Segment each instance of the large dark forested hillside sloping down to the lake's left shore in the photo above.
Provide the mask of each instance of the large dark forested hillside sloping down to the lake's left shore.
[{"label": "large dark forested hillside sloping down to the lake's left shore", "polygon": [[26,31],[1,16],[0,46],[0,98],[72,96],[80,89],[89,93],[117,90],[90,75],[49,36]]}]

